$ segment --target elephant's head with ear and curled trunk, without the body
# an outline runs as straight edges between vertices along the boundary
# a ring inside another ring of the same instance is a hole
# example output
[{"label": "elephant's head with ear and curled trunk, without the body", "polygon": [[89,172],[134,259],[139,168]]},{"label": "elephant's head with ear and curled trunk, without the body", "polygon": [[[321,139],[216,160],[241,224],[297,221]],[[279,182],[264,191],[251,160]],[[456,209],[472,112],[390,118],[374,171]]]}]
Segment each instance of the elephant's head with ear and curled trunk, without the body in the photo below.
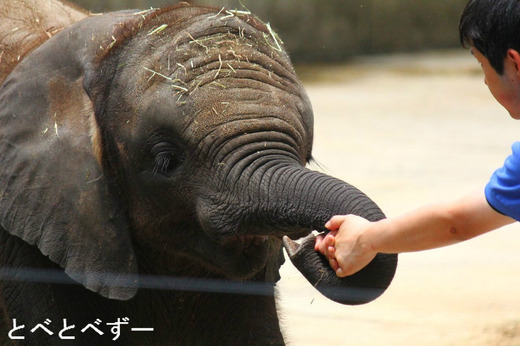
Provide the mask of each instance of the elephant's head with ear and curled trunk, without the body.
[{"label": "elephant's head with ear and curled trunk, without the body", "polygon": [[86,288],[138,273],[276,281],[282,238],[328,297],[367,302],[396,256],[339,279],[312,249],[334,214],[384,217],[305,168],[313,114],[279,37],[240,11],[181,4],[90,16],[0,89],[0,222]]}]

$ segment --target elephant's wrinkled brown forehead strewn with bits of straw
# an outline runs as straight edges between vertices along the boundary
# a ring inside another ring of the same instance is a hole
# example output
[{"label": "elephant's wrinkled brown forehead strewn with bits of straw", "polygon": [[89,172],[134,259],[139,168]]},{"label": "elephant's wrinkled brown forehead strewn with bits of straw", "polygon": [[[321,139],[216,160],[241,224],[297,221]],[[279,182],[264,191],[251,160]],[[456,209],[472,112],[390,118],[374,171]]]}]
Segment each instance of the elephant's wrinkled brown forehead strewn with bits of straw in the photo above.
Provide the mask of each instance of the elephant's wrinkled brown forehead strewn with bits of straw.
[{"label": "elephant's wrinkled brown forehead strewn with bits of straw", "polygon": [[216,139],[276,133],[298,156],[310,152],[306,92],[282,41],[248,18],[217,10],[143,26],[124,46],[111,84],[120,136],[169,133],[204,151]]}]

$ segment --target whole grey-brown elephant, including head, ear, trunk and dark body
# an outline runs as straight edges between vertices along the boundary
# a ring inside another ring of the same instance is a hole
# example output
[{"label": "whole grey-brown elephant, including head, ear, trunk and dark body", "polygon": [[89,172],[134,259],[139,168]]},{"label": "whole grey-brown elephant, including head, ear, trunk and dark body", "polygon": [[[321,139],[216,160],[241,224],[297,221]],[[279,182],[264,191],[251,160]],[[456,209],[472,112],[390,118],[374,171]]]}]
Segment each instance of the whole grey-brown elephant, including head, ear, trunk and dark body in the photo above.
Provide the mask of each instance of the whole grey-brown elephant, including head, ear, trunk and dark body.
[{"label": "whole grey-brown elephant, including head, ear, trunk and dark body", "polygon": [[384,215],[305,167],[309,99],[247,11],[3,0],[0,54],[2,344],[283,344],[284,245],[340,303],[390,284],[396,255],[339,279],[313,250],[332,215]]}]

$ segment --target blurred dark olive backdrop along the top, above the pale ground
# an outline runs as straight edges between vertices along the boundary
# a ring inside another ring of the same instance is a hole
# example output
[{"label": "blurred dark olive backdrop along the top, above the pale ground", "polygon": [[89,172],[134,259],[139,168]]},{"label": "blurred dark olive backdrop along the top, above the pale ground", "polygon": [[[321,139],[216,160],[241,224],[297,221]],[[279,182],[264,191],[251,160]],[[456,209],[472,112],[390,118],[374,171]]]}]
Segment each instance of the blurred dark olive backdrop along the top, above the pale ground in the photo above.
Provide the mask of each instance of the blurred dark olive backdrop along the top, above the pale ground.
[{"label": "blurred dark olive backdrop along the top, above the pale ground", "polygon": [[[174,0],[72,0],[94,12],[161,7]],[[452,48],[466,0],[193,0],[250,10],[278,32],[293,62]]]}]

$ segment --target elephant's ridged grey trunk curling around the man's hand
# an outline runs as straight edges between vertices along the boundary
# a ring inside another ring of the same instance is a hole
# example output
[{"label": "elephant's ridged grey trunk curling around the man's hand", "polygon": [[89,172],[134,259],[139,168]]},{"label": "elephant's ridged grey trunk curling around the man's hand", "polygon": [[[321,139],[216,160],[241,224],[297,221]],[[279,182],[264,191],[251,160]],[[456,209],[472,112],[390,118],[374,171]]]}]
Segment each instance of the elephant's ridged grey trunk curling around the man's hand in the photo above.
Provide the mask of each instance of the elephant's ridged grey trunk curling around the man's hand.
[{"label": "elephant's ridged grey trunk curling around the man's hand", "polygon": [[[284,237],[295,267],[328,298],[343,304],[367,303],[390,285],[397,255],[378,254],[355,275],[338,278],[328,261],[314,251],[312,230],[325,231],[333,215],[356,214],[370,221],[384,218],[379,207],[357,188],[328,175],[287,161],[271,160],[243,171],[238,203],[221,203],[215,222],[230,234]],[[251,172],[248,174],[248,171]],[[231,205],[231,207],[230,207]],[[213,210],[215,211],[215,209]],[[296,239],[306,236],[301,241]]]}]

